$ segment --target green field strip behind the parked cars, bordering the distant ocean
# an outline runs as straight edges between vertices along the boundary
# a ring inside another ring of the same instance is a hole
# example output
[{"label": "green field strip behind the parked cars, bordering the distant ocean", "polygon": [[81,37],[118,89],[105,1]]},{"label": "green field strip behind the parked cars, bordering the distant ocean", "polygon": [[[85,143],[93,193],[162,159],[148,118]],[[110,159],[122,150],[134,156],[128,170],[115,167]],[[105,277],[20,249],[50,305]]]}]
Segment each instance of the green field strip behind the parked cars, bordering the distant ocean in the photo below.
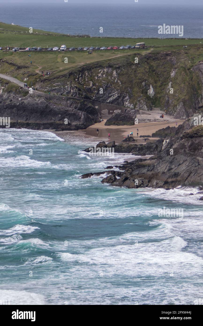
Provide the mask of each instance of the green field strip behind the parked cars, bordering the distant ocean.
[{"label": "green field strip behind the parked cars, bordering the distant ocean", "polygon": [[[3,29],[3,30],[2,30]],[[16,32],[15,32],[16,31]],[[39,35],[43,34],[43,35]],[[50,35],[46,35],[50,34]],[[110,37],[70,37],[58,33],[51,33],[41,30],[33,30],[29,34],[29,28],[10,25],[0,22],[0,46],[11,47],[42,47],[49,48],[65,44],[66,47],[90,47],[90,46],[122,46],[135,45],[138,42],[145,42],[147,46],[178,46],[203,44],[203,39],[173,39],[173,38],[110,38]]]}]

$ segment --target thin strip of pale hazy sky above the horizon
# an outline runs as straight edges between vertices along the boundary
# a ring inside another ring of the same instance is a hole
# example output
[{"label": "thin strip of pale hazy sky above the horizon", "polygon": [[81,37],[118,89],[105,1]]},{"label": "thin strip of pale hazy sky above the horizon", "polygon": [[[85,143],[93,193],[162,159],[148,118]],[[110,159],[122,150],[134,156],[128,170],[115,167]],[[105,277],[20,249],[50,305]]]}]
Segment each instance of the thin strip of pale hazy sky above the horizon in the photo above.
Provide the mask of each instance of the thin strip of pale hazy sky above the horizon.
[{"label": "thin strip of pale hazy sky above the horizon", "polygon": [[[35,3],[44,3],[44,4],[49,4],[49,3],[64,3],[64,0],[34,0],[34,1],[29,1],[29,0],[0,0],[1,3],[26,3],[26,4],[35,4]],[[70,4],[77,4],[77,3],[82,3],[82,4],[134,4],[135,0],[68,0]],[[138,0],[138,4],[149,4],[149,5],[173,5],[175,6],[184,6],[184,5],[200,5],[203,7],[203,0]]]}]

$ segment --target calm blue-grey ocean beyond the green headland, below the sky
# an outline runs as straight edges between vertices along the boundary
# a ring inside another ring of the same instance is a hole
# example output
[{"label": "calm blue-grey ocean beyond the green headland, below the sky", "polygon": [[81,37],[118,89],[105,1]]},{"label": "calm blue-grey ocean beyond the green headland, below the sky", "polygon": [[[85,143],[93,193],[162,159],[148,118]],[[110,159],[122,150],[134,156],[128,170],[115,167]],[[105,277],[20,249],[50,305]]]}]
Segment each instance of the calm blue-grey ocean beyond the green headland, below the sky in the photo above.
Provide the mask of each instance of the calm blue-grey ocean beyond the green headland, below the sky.
[{"label": "calm blue-grey ocean beyond the green headland, below the sky", "polygon": [[[34,14],[33,14],[34,13]],[[46,31],[96,37],[174,37],[158,26],[183,25],[184,37],[203,37],[203,6],[129,4],[1,4],[0,21]],[[103,33],[99,28],[103,27]],[[179,37],[175,35],[175,37]]]}]

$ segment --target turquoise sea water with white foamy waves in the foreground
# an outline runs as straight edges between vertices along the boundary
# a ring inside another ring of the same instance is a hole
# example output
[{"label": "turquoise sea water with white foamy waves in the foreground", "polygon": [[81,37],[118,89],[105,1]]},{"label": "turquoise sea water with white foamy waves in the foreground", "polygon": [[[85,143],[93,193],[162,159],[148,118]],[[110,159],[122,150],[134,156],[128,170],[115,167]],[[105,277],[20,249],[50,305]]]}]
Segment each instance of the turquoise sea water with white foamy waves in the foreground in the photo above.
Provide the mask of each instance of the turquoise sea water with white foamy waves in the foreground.
[{"label": "turquoise sea water with white foamy waves in the foreground", "polygon": [[[195,304],[202,298],[197,189],[125,189],[80,179],[129,155],[92,141],[0,130],[0,300],[11,304]],[[33,154],[30,155],[30,149]],[[189,196],[193,192],[194,196]],[[163,207],[183,218],[158,217]]]}]

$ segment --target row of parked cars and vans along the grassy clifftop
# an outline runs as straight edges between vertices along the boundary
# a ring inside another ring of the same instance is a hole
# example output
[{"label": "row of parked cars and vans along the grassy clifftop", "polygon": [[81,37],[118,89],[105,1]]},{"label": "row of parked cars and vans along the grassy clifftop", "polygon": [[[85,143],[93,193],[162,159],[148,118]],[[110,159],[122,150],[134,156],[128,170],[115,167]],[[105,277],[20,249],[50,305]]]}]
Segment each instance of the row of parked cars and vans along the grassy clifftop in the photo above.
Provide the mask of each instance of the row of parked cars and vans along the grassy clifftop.
[{"label": "row of parked cars and vans along the grassy clifftop", "polygon": [[[66,50],[69,50],[69,51],[74,51],[74,50],[84,50],[84,51],[87,51],[87,50],[124,50],[124,49],[144,49],[145,48],[145,43],[137,43],[136,45],[122,45],[120,47],[118,46],[109,46],[108,48],[103,46],[103,47],[93,47],[91,46],[90,48],[89,47],[79,47],[79,48],[66,48],[65,45],[62,45],[60,47],[60,49],[55,46],[54,48],[49,48],[47,49],[47,51],[66,51]],[[0,48],[1,50],[1,48]],[[12,51],[16,52],[16,51],[19,51],[20,49],[19,48],[13,48]],[[43,49],[42,48],[36,48],[36,47],[33,47],[33,48],[26,48],[25,51],[42,51]]]}]

